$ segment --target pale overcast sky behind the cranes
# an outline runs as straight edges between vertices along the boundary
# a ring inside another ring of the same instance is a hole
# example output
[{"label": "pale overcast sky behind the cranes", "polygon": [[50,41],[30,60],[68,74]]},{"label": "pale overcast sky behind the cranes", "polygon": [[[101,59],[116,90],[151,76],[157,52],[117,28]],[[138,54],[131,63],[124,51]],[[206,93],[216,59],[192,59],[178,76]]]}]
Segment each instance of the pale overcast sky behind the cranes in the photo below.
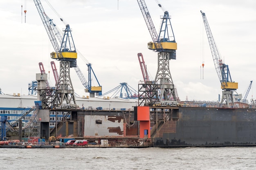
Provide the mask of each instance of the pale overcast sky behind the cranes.
[{"label": "pale overcast sky behind the cranes", "polygon": [[[86,63],[91,63],[103,93],[126,82],[138,89],[143,80],[137,53],[142,53],[150,79],[157,72],[157,53],[147,48],[152,41],[136,0],[48,0],[72,29],[76,49],[83,55],[77,64],[87,79]],[[222,93],[204,29],[202,10],[238,94],[245,94],[253,81],[248,100],[256,96],[256,1],[254,0],[158,0],[171,15],[177,42],[176,60],[170,61],[173,83],[181,100],[217,101]],[[59,29],[65,28],[52,8],[41,0],[45,13]],[[155,0],[145,0],[156,30],[164,12]],[[21,5],[23,6],[21,8]],[[26,13],[26,22],[24,10]],[[28,95],[28,84],[40,73],[43,62],[54,85],[50,58],[54,51],[34,1],[0,1],[0,88],[2,93]],[[204,63],[204,68],[201,67]],[[80,96],[84,92],[71,68],[72,84]],[[88,79],[87,79],[88,80]],[[92,85],[98,86],[95,78]],[[256,97],[255,97],[256,98]]]}]

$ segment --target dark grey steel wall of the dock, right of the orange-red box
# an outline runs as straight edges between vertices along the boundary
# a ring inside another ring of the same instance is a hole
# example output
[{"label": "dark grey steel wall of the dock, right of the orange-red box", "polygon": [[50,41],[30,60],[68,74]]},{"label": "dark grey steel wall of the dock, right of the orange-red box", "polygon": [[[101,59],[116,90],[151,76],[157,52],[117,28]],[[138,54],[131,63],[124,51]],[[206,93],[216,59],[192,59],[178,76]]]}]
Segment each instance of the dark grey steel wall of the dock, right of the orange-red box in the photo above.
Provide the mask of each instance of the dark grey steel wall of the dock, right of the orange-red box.
[{"label": "dark grey steel wall of the dock, right of the orange-red box", "polygon": [[256,110],[179,108],[177,121],[166,121],[153,140],[154,146],[254,145]]}]

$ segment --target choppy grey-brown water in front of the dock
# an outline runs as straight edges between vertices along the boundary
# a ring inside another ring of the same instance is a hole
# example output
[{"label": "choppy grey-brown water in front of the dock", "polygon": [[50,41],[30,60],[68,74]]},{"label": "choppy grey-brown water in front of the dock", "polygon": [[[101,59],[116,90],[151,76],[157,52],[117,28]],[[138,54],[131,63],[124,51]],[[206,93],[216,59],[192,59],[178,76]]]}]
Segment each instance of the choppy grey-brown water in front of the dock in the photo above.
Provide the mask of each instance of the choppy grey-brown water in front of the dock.
[{"label": "choppy grey-brown water in front of the dock", "polygon": [[2,170],[245,170],[256,147],[0,148]]}]

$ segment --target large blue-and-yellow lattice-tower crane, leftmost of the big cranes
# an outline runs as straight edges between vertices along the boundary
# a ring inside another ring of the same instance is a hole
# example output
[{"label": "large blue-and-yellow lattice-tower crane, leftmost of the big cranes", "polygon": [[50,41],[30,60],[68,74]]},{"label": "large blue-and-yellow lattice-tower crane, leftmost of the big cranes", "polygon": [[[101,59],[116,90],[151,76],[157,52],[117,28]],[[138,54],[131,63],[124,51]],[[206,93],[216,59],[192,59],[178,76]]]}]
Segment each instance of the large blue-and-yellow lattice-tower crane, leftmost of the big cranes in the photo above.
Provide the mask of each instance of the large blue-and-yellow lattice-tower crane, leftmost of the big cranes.
[{"label": "large blue-and-yellow lattice-tower crane, leftmost of the big cranes", "polygon": [[[49,36],[49,39],[54,47],[54,51],[51,53],[51,58],[60,61],[60,77],[56,86],[56,93],[54,96],[53,105],[63,105],[64,102],[69,106],[76,106],[76,99],[74,96],[74,88],[70,78],[70,68],[76,67],[76,48],[71,34],[70,25],[67,24],[62,38],[62,43],[59,46],[55,34],[52,30],[52,26],[40,0],[34,0],[40,18],[45,26],[45,30]],[[72,42],[72,43],[71,43]]]}]

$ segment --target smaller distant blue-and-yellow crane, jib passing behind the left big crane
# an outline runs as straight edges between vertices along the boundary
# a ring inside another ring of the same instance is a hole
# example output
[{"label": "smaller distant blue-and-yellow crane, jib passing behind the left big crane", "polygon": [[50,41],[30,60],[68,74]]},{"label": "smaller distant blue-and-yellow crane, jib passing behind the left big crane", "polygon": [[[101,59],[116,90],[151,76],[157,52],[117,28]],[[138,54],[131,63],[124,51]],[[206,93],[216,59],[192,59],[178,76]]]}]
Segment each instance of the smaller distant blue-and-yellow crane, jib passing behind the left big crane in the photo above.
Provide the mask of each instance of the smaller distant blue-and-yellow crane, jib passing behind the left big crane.
[{"label": "smaller distant blue-and-yellow crane, jib passing behind the left big crane", "polygon": [[[56,35],[58,42],[61,43],[63,33],[61,33],[59,31],[59,29],[57,28],[54,21],[52,19],[50,19],[46,14],[45,14],[45,17],[47,18],[50,25],[52,26],[52,30],[53,30],[54,34]],[[61,21],[63,21],[63,18],[60,18],[60,19],[61,19]],[[78,52],[79,57],[81,57],[83,59],[84,58],[83,55],[81,55],[81,53],[79,53],[78,50],[76,50],[76,51]],[[83,86],[85,87],[85,92],[90,93],[90,97],[95,97],[95,93],[96,93],[96,95],[101,95],[102,94],[102,86],[99,84],[99,81],[98,81],[98,79],[97,79],[97,77],[96,77],[96,75],[95,75],[95,73],[92,69],[92,64],[87,62],[86,65],[88,67],[88,82],[86,81],[83,73],[81,72],[81,70],[80,70],[80,68],[77,64],[76,64],[76,67],[74,67],[74,69],[76,71],[76,74],[78,75],[80,81],[82,82]],[[95,79],[97,80],[98,86],[92,86],[92,75],[91,75],[91,73],[93,73]]]}]

